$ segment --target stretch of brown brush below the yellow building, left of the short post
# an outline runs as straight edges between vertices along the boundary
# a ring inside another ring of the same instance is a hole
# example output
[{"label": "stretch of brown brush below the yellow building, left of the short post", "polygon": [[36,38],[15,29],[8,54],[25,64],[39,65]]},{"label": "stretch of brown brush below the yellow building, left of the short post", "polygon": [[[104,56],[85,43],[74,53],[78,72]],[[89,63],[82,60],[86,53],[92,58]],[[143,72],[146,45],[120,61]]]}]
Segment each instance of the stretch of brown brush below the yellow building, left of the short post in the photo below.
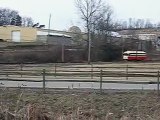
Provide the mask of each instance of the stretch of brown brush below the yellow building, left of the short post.
[{"label": "stretch of brown brush below the yellow building, left of the short post", "polygon": [[17,49],[1,53],[0,63],[50,63],[60,62],[61,50],[59,47],[41,49]]}]

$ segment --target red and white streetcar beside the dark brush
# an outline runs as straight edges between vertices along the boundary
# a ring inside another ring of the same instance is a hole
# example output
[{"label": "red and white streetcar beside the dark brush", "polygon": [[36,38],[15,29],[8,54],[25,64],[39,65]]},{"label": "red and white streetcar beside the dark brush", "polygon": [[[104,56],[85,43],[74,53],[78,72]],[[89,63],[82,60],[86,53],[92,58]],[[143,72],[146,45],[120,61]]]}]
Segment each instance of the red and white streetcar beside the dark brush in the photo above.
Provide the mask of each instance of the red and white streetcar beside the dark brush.
[{"label": "red and white streetcar beside the dark brush", "polygon": [[123,60],[136,61],[147,59],[147,54],[144,51],[125,51],[123,53]]}]

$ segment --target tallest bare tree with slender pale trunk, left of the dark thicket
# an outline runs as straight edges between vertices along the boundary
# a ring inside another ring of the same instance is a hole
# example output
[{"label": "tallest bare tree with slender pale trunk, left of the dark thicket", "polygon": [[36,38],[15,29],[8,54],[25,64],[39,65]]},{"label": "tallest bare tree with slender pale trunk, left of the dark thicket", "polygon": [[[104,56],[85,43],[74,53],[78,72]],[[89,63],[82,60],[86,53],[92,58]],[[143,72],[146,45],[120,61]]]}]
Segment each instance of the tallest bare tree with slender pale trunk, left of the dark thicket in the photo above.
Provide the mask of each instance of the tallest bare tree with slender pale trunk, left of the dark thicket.
[{"label": "tallest bare tree with slender pale trunk, left of the dark thicket", "polygon": [[[79,10],[82,20],[85,22],[87,29],[88,41],[88,63],[91,61],[91,32],[95,30],[97,21],[104,17],[107,11],[102,0],[75,0],[76,7]],[[108,13],[108,16],[110,14]],[[107,19],[106,19],[107,20]]]}]

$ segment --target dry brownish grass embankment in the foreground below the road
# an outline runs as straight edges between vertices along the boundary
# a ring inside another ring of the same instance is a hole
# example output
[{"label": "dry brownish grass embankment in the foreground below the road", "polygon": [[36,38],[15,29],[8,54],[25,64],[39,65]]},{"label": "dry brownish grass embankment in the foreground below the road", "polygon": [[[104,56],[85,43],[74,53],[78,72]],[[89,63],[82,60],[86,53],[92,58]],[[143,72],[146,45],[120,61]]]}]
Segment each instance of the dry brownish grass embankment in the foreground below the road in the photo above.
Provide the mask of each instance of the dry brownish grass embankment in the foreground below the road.
[{"label": "dry brownish grass embankment in the foreground below the road", "polygon": [[155,91],[50,91],[3,89],[0,120],[159,120]]}]

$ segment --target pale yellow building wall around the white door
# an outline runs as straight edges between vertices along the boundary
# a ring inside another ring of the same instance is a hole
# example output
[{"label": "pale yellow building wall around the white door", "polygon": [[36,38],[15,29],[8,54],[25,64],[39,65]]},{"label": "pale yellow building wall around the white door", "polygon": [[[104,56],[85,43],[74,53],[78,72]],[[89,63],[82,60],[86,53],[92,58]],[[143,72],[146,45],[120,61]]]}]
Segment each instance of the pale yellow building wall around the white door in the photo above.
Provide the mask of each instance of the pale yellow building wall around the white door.
[{"label": "pale yellow building wall around the white door", "polygon": [[12,42],[12,31],[20,31],[20,42],[34,42],[37,39],[36,28],[19,26],[1,26],[0,39]]}]

